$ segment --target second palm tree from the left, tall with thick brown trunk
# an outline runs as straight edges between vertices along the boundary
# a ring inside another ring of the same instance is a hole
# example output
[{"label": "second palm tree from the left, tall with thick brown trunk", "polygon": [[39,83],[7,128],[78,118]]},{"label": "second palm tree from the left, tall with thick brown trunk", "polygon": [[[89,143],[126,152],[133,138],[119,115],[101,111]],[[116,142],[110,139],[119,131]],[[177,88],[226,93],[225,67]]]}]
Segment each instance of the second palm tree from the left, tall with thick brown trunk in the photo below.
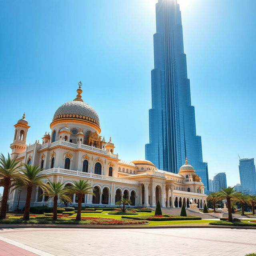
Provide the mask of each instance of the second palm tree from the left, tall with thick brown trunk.
[{"label": "second palm tree from the left, tall with thick brown trunk", "polygon": [[24,178],[17,180],[14,183],[14,189],[25,186],[27,188],[27,197],[25,210],[23,214],[23,220],[29,220],[29,210],[30,210],[30,201],[33,186],[39,186],[42,190],[47,190],[48,185],[43,182],[43,179],[47,179],[45,174],[39,174],[43,169],[39,168],[39,166],[32,166],[29,164],[24,164],[24,169],[22,170]]}]

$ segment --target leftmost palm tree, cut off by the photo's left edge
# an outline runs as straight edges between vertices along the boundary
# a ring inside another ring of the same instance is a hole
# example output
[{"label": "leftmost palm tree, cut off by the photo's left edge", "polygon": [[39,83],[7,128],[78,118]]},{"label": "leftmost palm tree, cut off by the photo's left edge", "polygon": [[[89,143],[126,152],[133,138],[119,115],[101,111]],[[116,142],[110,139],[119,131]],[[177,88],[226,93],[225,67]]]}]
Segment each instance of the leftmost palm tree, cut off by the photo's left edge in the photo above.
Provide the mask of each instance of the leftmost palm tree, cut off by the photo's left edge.
[{"label": "leftmost palm tree, cut off by the photo's left edge", "polygon": [[6,209],[8,201],[8,191],[12,180],[21,178],[22,174],[20,173],[20,161],[11,159],[10,154],[8,153],[7,158],[3,154],[0,155],[0,177],[4,180],[4,192],[2,196],[2,204],[0,211],[0,220],[6,218]]}]

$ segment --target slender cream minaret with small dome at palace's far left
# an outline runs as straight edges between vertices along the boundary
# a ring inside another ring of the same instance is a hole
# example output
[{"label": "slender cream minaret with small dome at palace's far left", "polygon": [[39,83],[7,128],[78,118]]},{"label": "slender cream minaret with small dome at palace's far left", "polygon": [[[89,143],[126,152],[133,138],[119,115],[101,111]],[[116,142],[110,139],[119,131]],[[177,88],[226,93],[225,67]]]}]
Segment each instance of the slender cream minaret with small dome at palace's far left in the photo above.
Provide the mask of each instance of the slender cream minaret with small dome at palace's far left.
[{"label": "slender cream minaret with small dome at palace's far left", "polygon": [[27,147],[26,138],[30,126],[28,126],[28,121],[25,119],[25,113],[23,114],[22,119],[18,120],[14,127],[14,139],[12,144],[10,144],[12,158],[16,158],[19,154],[25,152]]}]

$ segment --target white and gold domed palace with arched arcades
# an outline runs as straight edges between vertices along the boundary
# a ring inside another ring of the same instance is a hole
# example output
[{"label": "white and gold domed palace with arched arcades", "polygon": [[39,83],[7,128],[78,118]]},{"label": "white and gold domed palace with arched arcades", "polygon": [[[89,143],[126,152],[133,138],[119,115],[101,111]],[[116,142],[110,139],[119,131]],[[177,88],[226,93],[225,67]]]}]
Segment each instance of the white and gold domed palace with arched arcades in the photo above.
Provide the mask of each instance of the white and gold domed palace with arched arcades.
[{"label": "white and gold domed palace with arched arcades", "polygon": [[[192,203],[203,208],[207,197],[204,184],[187,160],[178,174],[158,170],[148,160],[120,160],[111,138],[106,142],[100,136],[98,114],[82,100],[82,83],[78,85],[76,98],[55,112],[51,134],[44,134],[42,143],[38,140],[27,146],[30,126],[25,114],[18,120],[10,145],[12,158],[40,166],[50,181],[60,181],[65,186],[70,186],[72,180],[88,180],[95,196],[85,195],[83,206],[113,207],[124,197],[130,198],[135,207],[154,207],[159,200],[162,207],[182,207],[184,202],[186,207]],[[31,206],[52,206],[52,200],[42,194],[42,189],[34,188]],[[77,199],[74,194],[72,205],[77,204]],[[25,189],[10,191],[10,210],[15,210],[18,200],[23,208]]]}]

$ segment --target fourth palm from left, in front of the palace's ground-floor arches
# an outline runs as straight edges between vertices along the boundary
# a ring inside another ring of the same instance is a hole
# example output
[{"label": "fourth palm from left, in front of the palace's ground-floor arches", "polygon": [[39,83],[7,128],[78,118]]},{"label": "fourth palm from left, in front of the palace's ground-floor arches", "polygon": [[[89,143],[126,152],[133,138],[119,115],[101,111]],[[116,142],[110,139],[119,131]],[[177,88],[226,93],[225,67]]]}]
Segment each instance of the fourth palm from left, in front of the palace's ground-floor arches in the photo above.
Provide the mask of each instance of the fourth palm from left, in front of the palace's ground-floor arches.
[{"label": "fourth palm from left, in front of the palace's ground-floor arches", "polygon": [[77,214],[76,220],[81,220],[81,210],[82,210],[82,197],[85,194],[94,195],[93,190],[94,188],[90,185],[88,180],[73,180],[72,186],[66,188],[66,194],[76,194],[78,196],[78,207],[77,207]]}]

